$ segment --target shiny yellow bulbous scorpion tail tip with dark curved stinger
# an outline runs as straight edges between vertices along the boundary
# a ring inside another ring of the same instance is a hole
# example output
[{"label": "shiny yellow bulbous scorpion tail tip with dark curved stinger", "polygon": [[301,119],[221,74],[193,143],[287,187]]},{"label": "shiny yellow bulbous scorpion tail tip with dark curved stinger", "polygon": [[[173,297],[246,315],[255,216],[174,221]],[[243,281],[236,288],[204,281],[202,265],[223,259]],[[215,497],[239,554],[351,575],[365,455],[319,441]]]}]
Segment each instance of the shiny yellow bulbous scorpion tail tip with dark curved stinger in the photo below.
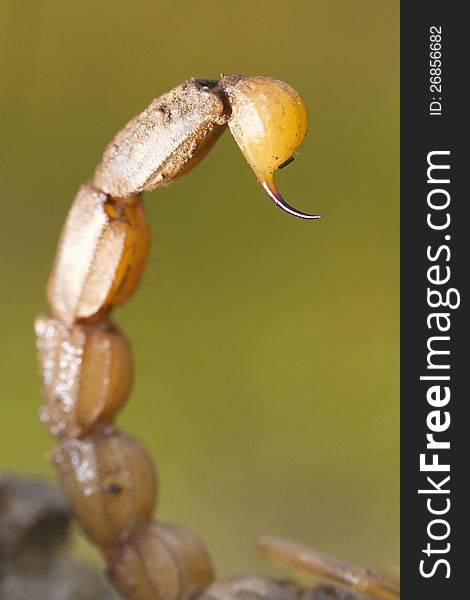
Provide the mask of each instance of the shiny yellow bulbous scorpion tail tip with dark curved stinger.
[{"label": "shiny yellow bulbous scorpion tail tip with dark curved stinger", "polygon": [[299,94],[271,77],[224,77],[221,87],[232,114],[230,131],[258,182],[276,204],[297,217],[316,219],[289,206],[274,184],[274,172],[288,164],[307,133],[307,109]]}]

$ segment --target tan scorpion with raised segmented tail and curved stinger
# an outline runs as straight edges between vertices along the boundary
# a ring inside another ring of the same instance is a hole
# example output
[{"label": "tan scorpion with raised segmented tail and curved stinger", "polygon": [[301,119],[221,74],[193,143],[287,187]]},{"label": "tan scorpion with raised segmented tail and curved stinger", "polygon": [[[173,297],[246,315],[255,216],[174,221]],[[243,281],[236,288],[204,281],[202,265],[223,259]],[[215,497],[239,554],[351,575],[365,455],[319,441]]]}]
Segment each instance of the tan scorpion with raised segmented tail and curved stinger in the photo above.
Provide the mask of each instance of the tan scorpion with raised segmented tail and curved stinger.
[{"label": "tan scorpion with raised segmented tail and curved stinger", "polygon": [[[81,528],[128,599],[357,597],[337,587],[303,589],[267,577],[214,582],[208,553],[194,534],[152,522],[158,492],[152,461],[113,425],[131,389],[132,357],[110,312],[133,293],[145,267],[150,234],[141,194],[190,171],[227,126],[279,206],[297,217],[319,217],[289,206],[273,181],[307,131],[305,105],[286,83],[240,75],[192,79],[132,119],[75,198],[49,279],[51,315],[36,320],[46,396],[41,420],[58,440],[53,464]],[[313,550],[275,538],[259,544],[268,556],[364,594],[398,597],[393,583]]]}]

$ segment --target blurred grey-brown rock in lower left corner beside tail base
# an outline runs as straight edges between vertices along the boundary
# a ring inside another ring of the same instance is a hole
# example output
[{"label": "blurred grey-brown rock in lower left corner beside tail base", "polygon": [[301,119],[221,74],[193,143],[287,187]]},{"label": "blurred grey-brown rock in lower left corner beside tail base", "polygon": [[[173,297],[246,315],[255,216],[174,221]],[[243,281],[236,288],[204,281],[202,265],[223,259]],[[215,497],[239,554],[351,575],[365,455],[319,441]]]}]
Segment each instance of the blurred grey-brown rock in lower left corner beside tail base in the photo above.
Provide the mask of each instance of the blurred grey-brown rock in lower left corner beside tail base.
[{"label": "blurred grey-brown rock in lower left corner beside tail base", "polygon": [[119,600],[100,573],[71,558],[69,526],[54,487],[0,475],[1,600]]}]

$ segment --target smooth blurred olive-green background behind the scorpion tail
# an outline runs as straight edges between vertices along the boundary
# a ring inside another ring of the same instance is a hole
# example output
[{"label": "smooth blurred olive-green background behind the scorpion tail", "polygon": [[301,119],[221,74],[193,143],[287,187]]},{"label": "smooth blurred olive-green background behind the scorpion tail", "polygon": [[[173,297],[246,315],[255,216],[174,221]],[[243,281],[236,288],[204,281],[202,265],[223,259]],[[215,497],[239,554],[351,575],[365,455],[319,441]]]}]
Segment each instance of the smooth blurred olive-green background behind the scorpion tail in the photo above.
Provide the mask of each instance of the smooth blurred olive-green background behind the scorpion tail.
[{"label": "smooth blurred olive-green background behind the scorpion tail", "polygon": [[[3,470],[53,477],[32,322],[67,210],[114,133],[191,77],[271,75],[310,129],[274,206],[230,134],[146,197],[153,247],[116,311],[158,516],[221,575],[274,572],[259,533],[398,561],[398,0],[0,1]],[[77,536],[77,552],[97,560]]]}]

